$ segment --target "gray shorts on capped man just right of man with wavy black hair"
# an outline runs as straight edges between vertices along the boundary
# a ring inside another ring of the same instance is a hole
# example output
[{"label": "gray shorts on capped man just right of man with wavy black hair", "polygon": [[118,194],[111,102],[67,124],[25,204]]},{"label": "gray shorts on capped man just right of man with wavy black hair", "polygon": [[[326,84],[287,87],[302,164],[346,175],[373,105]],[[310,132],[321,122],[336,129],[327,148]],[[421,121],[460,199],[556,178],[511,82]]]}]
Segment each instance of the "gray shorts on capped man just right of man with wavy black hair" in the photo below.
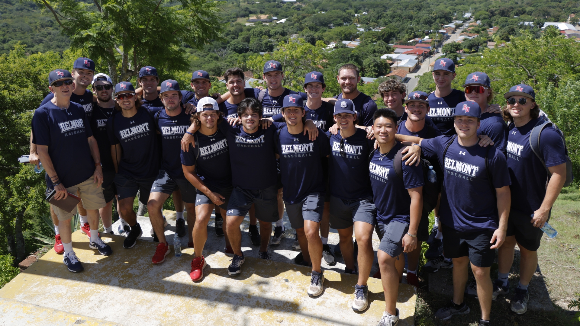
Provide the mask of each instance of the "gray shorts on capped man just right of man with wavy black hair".
[{"label": "gray shorts on capped man just right of man with wavy black hair", "polygon": [[302,229],[304,220],[320,223],[324,211],[324,196],[322,193],[310,193],[301,202],[289,204],[284,201],[284,205],[292,229]]}]

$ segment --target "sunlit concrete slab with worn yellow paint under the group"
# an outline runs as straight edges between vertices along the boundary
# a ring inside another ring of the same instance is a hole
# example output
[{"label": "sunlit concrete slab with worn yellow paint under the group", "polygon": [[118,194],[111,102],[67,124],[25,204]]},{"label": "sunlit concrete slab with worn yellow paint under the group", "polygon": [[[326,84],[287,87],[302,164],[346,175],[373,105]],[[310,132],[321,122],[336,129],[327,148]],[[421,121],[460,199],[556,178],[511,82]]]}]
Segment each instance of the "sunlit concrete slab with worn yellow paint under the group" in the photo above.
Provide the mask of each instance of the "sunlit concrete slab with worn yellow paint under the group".
[{"label": "sunlit concrete slab with worn yellow paint under the group", "polygon": [[[1,319],[24,321],[19,317],[22,311],[37,305],[39,311],[54,311],[44,312],[42,325],[63,325],[64,318],[88,316],[103,320],[104,325],[362,326],[375,325],[385,307],[382,284],[375,278],[368,282],[368,310],[355,313],[350,309],[355,275],[325,270],[323,294],[310,298],[308,267],[248,256],[242,273],[230,277],[230,257],[208,251],[205,277],[194,283],[189,277],[192,248],[184,248],[181,257],[170,253],[164,263],[153,265],[157,242],[138,241],[132,249],[124,249],[123,237],[102,234],[102,238],[113,255],[99,255],[89,249],[84,234],[73,234],[73,247],[85,267],[81,273],[67,271],[63,256],[50,250],[6,284],[0,298],[16,301],[2,302],[0,311],[6,317]],[[415,288],[400,284],[397,301],[399,325],[413,325]]]}]

